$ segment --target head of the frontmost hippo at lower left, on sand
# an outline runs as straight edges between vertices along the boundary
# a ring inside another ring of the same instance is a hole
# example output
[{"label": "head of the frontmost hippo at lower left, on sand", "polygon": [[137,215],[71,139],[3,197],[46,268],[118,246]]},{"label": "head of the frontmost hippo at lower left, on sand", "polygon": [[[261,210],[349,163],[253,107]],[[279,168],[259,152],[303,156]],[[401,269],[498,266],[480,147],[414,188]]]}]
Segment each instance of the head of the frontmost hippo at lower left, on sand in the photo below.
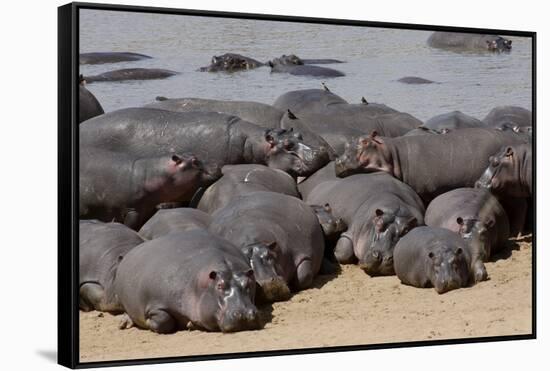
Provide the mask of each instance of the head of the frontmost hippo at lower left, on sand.
[{"label": "head of the frontmost hippo at lower left, on sand", "polygon": [[[258,310],[253,304],[256,281],[252,269],[244,272],[213,270],[207,281],[208,293],[210,298],[213,296],[217,308],[214,318],[203,321],[208,330],[219,328],[222,332],[235,332],[260,328]],[[207,302],[212,305],[211,300]]]}]

